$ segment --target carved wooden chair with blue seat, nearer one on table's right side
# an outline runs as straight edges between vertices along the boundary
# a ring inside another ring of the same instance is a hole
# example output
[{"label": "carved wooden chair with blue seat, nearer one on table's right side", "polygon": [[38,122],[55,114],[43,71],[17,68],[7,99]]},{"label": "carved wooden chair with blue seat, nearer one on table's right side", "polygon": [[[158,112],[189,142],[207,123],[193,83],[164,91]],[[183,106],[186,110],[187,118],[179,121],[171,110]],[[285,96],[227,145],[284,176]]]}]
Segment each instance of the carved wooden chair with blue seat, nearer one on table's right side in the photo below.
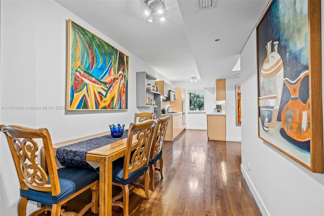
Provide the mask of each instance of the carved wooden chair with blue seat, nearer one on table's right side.
[{"label": "carved wooden chair with blue seat, nearer one on table's right side", "polygon": [[[144,185],[138,185],[144,189],[146,199],[149,199],[149,172],[148,159],[150,147],[154,135],[157,120],[147,120],[141,123],[131,123],[128,129],[127,146],[125,157],[119,158],[112,163],[112,184],[123,189],[119,195],[112,198],[112,206],[123,208],[124,215],[129,214],[129,191],[134,187],[136,179],[144,174]],[[133,136],[136,135],[135,148]],[[123,202],[118,201],[123,197]]]}]

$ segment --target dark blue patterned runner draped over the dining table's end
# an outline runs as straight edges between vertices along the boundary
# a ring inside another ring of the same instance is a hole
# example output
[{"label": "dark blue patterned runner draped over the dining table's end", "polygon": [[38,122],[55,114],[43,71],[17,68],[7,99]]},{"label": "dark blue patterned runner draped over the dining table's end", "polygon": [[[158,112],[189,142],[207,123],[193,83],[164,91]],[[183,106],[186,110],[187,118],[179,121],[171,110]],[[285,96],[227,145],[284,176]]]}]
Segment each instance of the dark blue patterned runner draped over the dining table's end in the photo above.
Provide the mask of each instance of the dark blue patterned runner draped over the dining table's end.
[{"label": "dark blue patterned runner draped over the dining table's end", "polygon": [[56,150],[56,158],[61,165],[65,167],[94,169],[94,167],[86,161],[87,152],[109,145],[120,139],[127,138],[127,134],[128,130],[124,130],[123,136],[119,138],[113,138],[108,134],[59,147]]}]

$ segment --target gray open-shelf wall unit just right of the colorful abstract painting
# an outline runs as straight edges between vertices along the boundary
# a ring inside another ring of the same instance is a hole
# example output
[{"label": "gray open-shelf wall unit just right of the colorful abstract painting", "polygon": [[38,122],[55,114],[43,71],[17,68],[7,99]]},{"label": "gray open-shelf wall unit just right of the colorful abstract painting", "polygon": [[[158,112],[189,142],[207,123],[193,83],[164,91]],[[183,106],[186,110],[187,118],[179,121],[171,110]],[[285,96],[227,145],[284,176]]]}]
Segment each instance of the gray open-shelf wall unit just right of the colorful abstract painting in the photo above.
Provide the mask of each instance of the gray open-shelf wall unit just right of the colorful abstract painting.
[{"label": "gray open-shelf wall unit just right of the colorful abstract painting", "polygon": [[[146,90],[148,83],[154,85],[155,77],[145,71],[136,73],[136,106],[137,107],[153,107],[156,118],[161,117],[161,93],[152,90]],[[155,100],[155,105],[146,104],[146,95]]]}]

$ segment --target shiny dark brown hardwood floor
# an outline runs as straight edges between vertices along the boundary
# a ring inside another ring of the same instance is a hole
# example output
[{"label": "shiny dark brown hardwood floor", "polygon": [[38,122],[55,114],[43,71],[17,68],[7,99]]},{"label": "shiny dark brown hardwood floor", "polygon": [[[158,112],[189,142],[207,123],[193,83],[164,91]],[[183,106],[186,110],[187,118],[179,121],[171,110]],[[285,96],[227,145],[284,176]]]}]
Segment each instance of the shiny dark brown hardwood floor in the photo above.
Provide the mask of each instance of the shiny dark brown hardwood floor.
[{"label": "shiny dark brown hardwood floor", "polygon": [[[130,192],[131,215],[262,215],[240,172],[240,142],[211,141],[206,130],[185,130],[165,141],[163,157],[164,178],[156,172],[150,199],[141,189]],[[79,210],[85,200],[91,200],[90,192],[64,208]],[[123,215],[119,207],[112,210]]]}]

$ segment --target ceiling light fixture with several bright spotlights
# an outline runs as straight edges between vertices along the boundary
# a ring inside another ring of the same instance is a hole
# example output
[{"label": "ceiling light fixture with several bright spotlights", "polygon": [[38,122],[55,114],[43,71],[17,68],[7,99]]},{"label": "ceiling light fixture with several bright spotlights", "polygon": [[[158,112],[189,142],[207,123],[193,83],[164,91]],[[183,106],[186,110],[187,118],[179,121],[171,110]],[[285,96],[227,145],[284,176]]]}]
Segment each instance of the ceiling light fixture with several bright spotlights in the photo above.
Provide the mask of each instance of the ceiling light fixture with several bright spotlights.
[{"label": "ceiling light fixture with several bright spotlights", "polygon": [[153,22],[154,15],[158,16],[161,21],[166,19],[167,10],[163,0],[144,0],[145,15],[148,21]]}]

